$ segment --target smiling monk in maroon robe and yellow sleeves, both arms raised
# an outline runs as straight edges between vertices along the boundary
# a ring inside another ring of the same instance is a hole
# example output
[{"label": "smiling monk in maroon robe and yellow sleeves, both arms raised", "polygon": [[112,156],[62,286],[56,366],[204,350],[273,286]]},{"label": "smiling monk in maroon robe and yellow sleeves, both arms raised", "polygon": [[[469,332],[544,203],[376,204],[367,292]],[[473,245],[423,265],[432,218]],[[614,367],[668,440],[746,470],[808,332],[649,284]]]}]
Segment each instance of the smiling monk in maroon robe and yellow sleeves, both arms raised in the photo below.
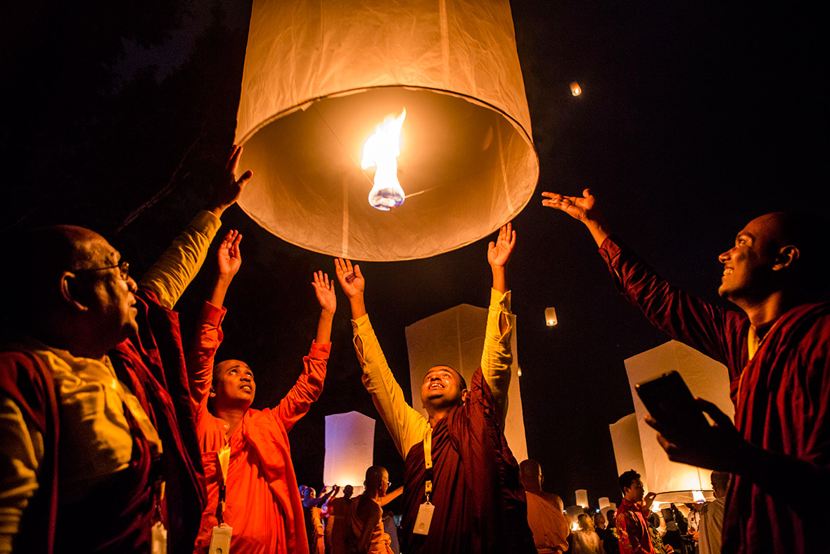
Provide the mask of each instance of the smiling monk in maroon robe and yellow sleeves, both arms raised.
[{"label": "smiling monk in maroon robe and yellow sleeves, both arms raised", "polygon": [[[336,262],[337,278],[352,308],[364,386],[406,460],[402,550],[408,554],[536,552],[519,465],[504,435],[512,361],[505,266],[514,246],[510,223],[489,244],[491,305],[481,366],[472,375],[471,388],[451,367],[432,367],[421,387],[427,419],[403,399],[380,349],[366,313],[359,266]],[[419,526],[419,511],[430,509],[428,529]]]}]

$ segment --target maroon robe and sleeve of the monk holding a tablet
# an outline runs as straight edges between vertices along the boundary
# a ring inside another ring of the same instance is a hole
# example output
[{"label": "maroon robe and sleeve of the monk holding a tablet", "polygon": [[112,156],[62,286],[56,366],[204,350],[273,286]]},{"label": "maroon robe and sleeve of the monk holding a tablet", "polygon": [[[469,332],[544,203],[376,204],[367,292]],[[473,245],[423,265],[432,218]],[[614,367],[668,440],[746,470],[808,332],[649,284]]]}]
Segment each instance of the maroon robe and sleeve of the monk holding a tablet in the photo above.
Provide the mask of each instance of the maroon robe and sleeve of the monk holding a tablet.
[{"label": "maroon robe and sleeve of the monk holding a tablet", "polygon": [[[726,497],[722,552],[830,552],[823,513],[808,498],[830,493],[830,303],[780,316],[752,360],[743,312],[712,306],[662,280],[614,238],[600,248],[621,292],[652,325],[729,369],[735,426],[759,448],[796,458],[790,476],[754,483],[735,475]],[[819,501],[820,502],[820,501]]]}]

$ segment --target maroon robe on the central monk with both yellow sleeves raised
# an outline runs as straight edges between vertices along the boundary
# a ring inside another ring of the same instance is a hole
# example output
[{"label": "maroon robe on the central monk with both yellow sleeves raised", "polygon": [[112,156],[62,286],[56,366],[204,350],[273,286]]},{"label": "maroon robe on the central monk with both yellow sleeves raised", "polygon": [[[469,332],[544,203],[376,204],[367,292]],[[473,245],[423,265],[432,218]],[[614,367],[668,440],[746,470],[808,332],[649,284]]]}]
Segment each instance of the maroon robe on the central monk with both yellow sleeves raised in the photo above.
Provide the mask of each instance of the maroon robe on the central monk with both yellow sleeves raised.
[{"label": "maroon robe on the central monk with both yellow sleeves raised", "polygon": [[432,429],[432,495],[427,536],[413,533],[426,499],[423,443],[409,450],[403,483],[403,545],[419,552],[536,552],[527,524],[525,489],[510,452],[490,387],[481,368],[472,377],[466,404]]}]

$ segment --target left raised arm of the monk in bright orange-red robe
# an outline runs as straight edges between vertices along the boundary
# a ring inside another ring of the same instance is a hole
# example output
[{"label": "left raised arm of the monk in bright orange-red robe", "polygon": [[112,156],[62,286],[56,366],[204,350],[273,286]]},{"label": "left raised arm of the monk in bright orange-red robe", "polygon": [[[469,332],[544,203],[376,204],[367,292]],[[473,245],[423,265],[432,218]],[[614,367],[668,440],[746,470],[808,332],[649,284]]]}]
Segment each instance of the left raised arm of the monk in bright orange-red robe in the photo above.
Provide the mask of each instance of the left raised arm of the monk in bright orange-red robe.
[{"label": "left raised arm of the monk in bright orange-red robe", "polygon": [[217,276],[213,284],[210,300],[205,302],[199,313],[193,347],[188,353],[188,380],[190,398],[198,408],[210,393],[213,380],[213,360],[219,345],[222,344],[222,319],[225,316],[225,293],[242,266],[242,253],[239,243],[242,235],[237,231],[228,231],[217,252]]}]

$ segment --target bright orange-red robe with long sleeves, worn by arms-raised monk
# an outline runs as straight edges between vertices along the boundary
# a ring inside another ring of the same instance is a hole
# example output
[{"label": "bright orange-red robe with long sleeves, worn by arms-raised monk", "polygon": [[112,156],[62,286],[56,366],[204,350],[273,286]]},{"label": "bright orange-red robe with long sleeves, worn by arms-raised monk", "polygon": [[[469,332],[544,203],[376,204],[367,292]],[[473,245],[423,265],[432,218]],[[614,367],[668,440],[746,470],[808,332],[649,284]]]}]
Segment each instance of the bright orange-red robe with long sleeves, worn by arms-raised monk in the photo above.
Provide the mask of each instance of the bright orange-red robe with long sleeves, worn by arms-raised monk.
[{"label": "bright orange-red robe with long sleeves, worn by arms-raised monk", "polygon": [[276,408],[248,409],[229,439],[222,419],[207,410],[213,356],[222,343],[225,311],[205,302],[197,346],[188,359],[196,429],[205,468],[207,506],[193,552],[207,552],[217,525],[219,467],[217,452],[230,444],[225,522],[233,527],[231,552],[308,554],[300,492],[291,463],[288,432],[320,397],[330,344],[314,343],[303,358],[304,370]]}]

